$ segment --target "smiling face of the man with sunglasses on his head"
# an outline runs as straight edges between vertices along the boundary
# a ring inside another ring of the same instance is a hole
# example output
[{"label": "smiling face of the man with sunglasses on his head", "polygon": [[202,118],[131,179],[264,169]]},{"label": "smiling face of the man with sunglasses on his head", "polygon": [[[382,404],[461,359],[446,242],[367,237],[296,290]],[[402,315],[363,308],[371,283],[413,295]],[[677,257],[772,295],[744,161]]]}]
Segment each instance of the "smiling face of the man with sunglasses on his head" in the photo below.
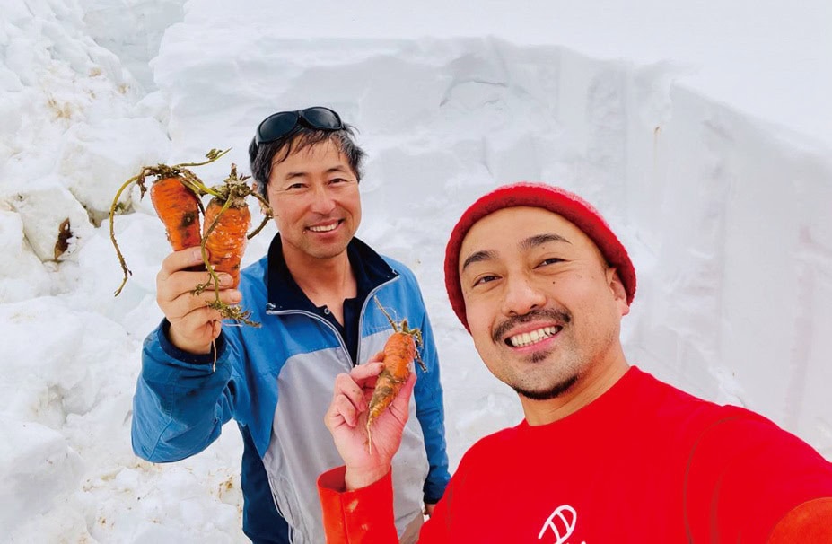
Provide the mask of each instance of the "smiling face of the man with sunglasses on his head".
[{"label": "smiling face of the man with sunglasses on his head", "polygon": [[330,140],[276,157],[267,197],[287,262],[343,255],[361,223],[357,176]]}]

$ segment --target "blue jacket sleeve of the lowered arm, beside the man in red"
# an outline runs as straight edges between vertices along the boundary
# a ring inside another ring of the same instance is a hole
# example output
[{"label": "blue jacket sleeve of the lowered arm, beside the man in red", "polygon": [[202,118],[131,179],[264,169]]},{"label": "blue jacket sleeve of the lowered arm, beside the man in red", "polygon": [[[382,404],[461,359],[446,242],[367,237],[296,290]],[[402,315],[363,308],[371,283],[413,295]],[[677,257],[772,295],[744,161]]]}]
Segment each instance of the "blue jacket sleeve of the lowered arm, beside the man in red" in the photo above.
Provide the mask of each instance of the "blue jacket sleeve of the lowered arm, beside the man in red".
[{"label": "blue jacket sleeve of the lowered arm, beside the man in red", "polygon": [[[421,295],[420,295],[421,296]],[[424,303],[423,303],[424,306]],[[442,384],[439,381],[439,357],[434,343],[431,322],[424,313],[419,324],[422,330],[421,357],[427,373],[418,373],[416,380],[416,418],[425,435],[425,452],[430,469],[425,479],[425,503],[435,504],[442,498],[451,475],[448,472],[448,454],[445,443],[445,410],[442,403]]]}]

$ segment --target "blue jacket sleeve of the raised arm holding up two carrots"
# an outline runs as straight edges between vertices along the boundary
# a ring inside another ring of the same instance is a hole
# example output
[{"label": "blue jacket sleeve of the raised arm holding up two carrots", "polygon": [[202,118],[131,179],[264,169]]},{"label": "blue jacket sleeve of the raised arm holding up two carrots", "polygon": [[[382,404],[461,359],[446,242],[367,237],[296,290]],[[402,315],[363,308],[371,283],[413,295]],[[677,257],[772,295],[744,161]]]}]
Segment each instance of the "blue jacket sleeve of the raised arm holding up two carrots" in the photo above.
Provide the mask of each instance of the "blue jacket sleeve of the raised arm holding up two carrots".
[{"label": "blue jacket sleeve of the raised arm holding up two carrots", "polygon": [[214,354],[192,355],[167,338],[167,320],[147,338],[133,398],[133,451],[153,462],[180,461],[203,451],[234,414],[232,348],[223,332]]}]

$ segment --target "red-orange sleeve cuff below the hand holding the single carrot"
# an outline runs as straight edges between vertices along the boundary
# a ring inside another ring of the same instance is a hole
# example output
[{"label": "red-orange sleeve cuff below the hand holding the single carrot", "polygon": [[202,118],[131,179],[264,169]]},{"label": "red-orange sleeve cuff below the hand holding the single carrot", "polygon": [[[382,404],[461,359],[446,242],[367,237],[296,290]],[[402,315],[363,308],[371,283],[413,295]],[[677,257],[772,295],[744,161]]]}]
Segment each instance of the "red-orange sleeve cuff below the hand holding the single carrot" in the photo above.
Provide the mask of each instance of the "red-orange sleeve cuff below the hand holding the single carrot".
[{"label": "red-orange sleeve cuff below the hand holding the single carrot", "polygon": [[390,472],[379,481],[347,491],[346,467],[324,472],[318,478],[324,531],[329,544],[396,544],[393,523],[393,481]]}]

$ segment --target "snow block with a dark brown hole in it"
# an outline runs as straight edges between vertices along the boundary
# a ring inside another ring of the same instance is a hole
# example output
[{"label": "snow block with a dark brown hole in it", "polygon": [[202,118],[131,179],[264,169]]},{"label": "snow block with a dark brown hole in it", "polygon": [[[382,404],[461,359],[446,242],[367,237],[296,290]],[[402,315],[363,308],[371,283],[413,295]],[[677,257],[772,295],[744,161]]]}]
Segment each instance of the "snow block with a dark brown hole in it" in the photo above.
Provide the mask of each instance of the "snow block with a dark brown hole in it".
[{"label": "snow block with a dark brown hole in it", "polygon": [[10,200],[26,240],[43,262],[68,259],[92,235],[89,215],[59,178],[37,180]]}]

